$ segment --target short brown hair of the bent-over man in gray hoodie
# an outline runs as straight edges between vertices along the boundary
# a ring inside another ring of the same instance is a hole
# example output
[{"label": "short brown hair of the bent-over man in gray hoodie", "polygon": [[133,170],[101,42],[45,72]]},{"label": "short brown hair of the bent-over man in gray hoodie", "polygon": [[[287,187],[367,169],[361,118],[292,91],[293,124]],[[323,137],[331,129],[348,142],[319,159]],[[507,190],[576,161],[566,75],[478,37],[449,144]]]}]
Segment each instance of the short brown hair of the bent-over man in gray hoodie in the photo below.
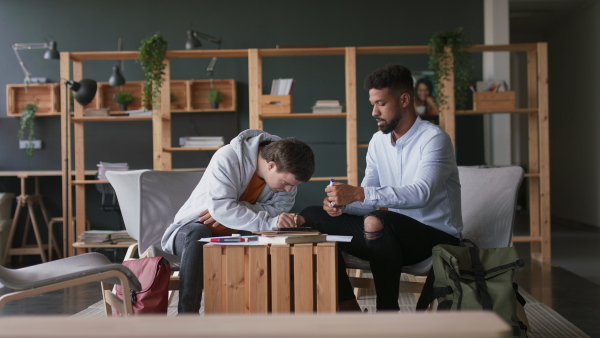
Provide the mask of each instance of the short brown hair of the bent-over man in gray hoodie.
[{"label": "short brown hair of the bent-over man in gray hoodie", "polygon": [[278,172],[288,172],[300,182],[308,182],[315,173],[315,154],[308,144],[295,137],[265,145],[261,156],[267,162],[275,162]]}]

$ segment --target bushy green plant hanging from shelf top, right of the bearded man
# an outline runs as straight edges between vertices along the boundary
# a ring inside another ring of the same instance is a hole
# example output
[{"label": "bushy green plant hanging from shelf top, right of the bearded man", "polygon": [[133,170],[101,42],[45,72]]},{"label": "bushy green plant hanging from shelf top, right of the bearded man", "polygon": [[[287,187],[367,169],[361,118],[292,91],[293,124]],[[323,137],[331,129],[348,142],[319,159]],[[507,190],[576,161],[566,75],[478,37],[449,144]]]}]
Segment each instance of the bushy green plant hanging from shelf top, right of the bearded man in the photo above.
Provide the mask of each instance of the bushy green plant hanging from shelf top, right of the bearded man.
[{"label": "bushy green plant hanging from shelf top, right of the bearded man", "polygon": [[[454,62],[449,62],[451,51]],[[429,70],[433,72],[436,88],[436,103],[438,107],[447,104],[447,97],[443,93],[444,81],[448,79],[450,71],[454,68],[454,96],[459,109],[466,109],[471,86],[471,72],[473,63],[467,49],[471,43],[467,39],[462,27],[455,30],[437,32],[429,39]]]}]

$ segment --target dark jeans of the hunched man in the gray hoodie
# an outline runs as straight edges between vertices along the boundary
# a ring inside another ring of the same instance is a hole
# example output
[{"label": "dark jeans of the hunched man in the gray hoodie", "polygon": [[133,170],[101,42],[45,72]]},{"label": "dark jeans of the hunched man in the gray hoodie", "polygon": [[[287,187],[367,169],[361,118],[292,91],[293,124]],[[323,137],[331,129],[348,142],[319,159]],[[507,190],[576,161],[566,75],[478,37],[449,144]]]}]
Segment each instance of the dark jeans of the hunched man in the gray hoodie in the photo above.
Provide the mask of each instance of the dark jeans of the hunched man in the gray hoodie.
[{"label": "dark jeans of the hunched man in the gray hoodie", "polygon": [[[249,234],[240,231],[241,235]],[[195,313],[200,311],[202,289],[204,287],[204,253],[206,242],[198,242],[200,238],[212,237],[210,229],[198,222],[183,225],[175,235],[173,253],[181,257],[179,271],[179,313]]]}]

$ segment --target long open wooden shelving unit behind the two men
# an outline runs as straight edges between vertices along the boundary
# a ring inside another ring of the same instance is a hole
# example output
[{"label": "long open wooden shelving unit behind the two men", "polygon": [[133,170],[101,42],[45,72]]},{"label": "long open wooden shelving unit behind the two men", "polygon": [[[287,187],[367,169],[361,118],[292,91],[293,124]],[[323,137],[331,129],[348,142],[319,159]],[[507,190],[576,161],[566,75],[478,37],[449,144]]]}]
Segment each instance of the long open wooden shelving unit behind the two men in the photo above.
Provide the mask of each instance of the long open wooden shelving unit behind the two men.
[{"label": "long open wooden shelving unit behind the two men", "polygon": [[[550,175],[549,175],[549,135],[548,135],[548,61],[547,44],[513,44],[513,45],[476,45],[470,48],[470,52],[524,52],[528,58],[528,106],[504,111],[474,111],[454,109],[453,83],[448,82],[444,86],[448,97],[447,105],[440,107],[440,126],[455,140],[455,117],[456,115],[481,115],[495,113],[527,114],[528,115],[528,139],[529,139],[529,164],[525,175],[529,183],[529,210],[530,210],[530,233],[528,236],[514,236],[514,242],[530,242],[532,257],[550,261]],[[123,116],[109,117],[84,117],[83,108],[75,107],[72,119],[75,142],[75,180],[70,181],[70,175],[63,177],[65,185],[75,187],[76,199],[76,228],[69,233],[69,242],[74,242],[75,234],[81,233],[85,228],[85,194],[84,186],[87,183],[83,172],[83,124],[92,121],[108,121],[119,119],[119,121],[151,120],[153,128],[153,163],[156,170],[172,170],[171,153],[173,151],[214,150],[213,148],[178,148],[171,146],[170,119],[171,112],[193,111],[190,108],[198,108],[200,111],[214,111],[202,102],[196,101],[190,96],[189,91],[200,88],[206,84],[195,81],[169,81],[170,59],[173,58],[210,58],[210,57],[243,57],[248,58],[248,82],[249,82],[249,108],[250,128],[263,129],[265,119],[296,119],[296,118],[343,118],[346,120],[346,176],[334,177],[336,180],[347,180],[349,184],[358,185],[358,159],[357,149],[365,148],[366,145],[357,144],[357,105],[356,105],[356,58],[358,55],[401,55],[401,54],[423,54],[427,55],[427,46],[386,46],[386,47],[336,47],[336,48],[305,48],[305,49],[240,49],[240,50],[204,50],[204,51],[168,51],[165,62],[165,75],[162,95],[159,105],[151,117],[128,118]],[[261,110],[261,98],[263,95],[262,61],[266,57],[287,56],[312,56],[312,55],[341,55],[344,56],[345,69],[345,107],[346,112],[336,114],[312,114],[312,113],[265,113]],[[73,79],[82,79],[84,60],[125,60],[137,58],[137,52],[81,52],[61,53],[61,78],[71,78],[69,73],[69,62],[73,62]],[[451,77],[452,78],[452,77]],[[215,81],[215,86],[216,86]],[[229,85],[235,88],[233,85]],[[205,87],[206,88],[206,87]],[[60,87],[59,107],[62,108],[62,135],[70,133],[70,128],[65,127],[66,102],[64,98],[64,87]],[[176,106],[163,106],[161,102],[170,101],[170,91],[173,90],[178,96]],[[198,89],[201,91],[201,89]],[[235,90],[235,89],[234,89]],[[178,93],[185,95],[178,95]],[[110,94],[106,94],[110,95]],[[179,97],[185,97],[181,101]],[[235,92],[232,93],[233,109],[235,108]],[[227,101],[226,101],[227,102]],[[184,108],[185,105],[185,108]],[[227,103],[224,103],[226,106]],[[175,109],[177,108],[177,109]],[[217,111],[227,111],[219,108]],[[69,135],[69,139],[70,139]],[[63,138],[64,142],[64,138]],[[70,147],[63,143],[63,158],[71,159]],[[64,165],[64,164],[63,164]],[[63,172],[66,168],[63,167]],[[69,172],[70,174],[70,172]],[[331,177],[315,177],[313,180],[325,181]],[[97,183],[97,181],[94,181]],[[71,189],[69,189],[71,191]],[[63,205],[72,203],[71,194],[63,196]],[[66,214],[63,207],[63,214]],[[70,223],[68,223],[70,224]]]}]

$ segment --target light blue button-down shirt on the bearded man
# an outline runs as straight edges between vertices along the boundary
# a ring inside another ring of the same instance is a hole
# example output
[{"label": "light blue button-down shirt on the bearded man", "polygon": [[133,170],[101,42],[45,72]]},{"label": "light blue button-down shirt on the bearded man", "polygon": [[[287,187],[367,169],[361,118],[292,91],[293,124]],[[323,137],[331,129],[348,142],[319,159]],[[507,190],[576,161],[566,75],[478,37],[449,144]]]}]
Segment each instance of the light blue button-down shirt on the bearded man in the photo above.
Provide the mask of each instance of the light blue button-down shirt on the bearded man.
[{"label": "light blue button-down shirt on the bearded man", "polygon": [[417,117],[395,144],[391,133],[375,133],[369,142],[361,186],[364,202],[349,204],[344,212],[366,215],[386,207],[461,237],[460,181],[454,148],[448,134],[438,126]]}]

